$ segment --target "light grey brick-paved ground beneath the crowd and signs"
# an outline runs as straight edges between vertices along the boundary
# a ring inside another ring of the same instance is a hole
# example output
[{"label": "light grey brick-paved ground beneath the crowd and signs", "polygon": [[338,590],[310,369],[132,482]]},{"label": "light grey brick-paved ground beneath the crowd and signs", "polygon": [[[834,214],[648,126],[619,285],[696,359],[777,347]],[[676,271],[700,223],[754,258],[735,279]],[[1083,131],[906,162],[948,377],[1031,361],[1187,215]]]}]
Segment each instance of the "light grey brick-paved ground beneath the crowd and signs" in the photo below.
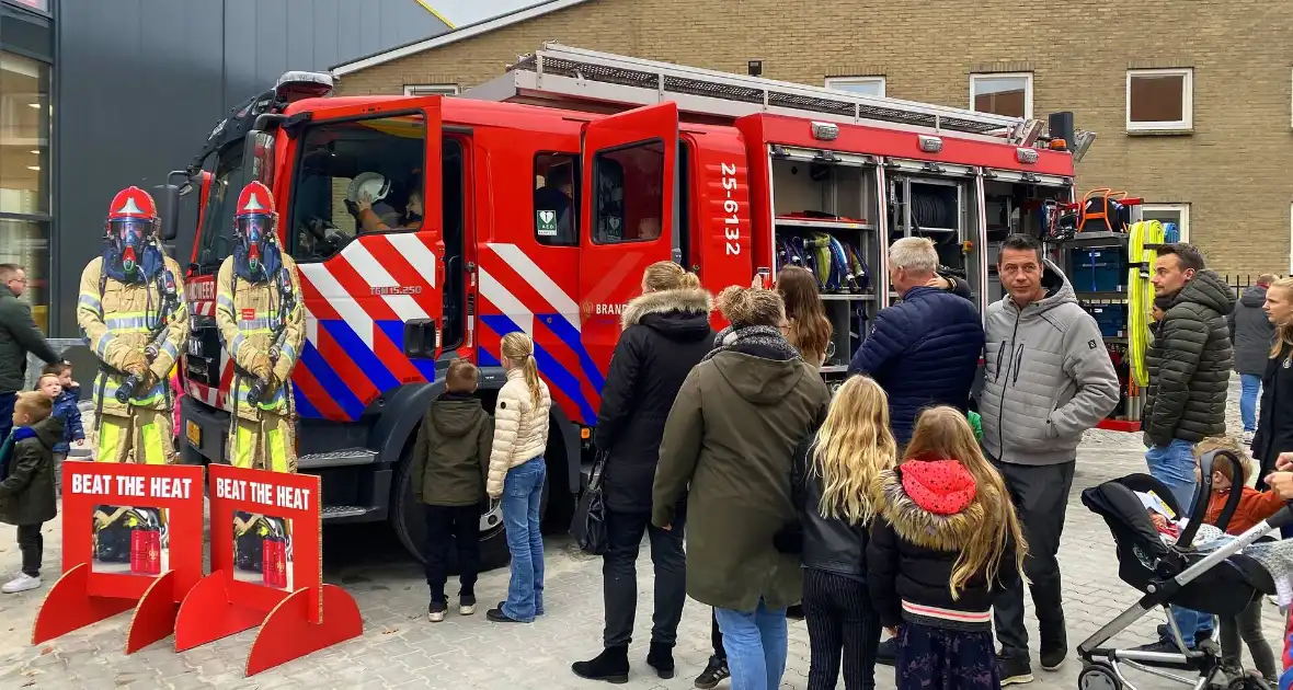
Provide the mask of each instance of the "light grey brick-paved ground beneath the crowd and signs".
[{"label": "light grey brick-paved ground beneath the crowd and signs", "polygon": [[[1237,394],[1232,394],[1232,401]],[[1237,421],[1237,420],[1236,420]],[[1232,429],[1239,429],[1232,423]],[[1076,646],[1099,625],[1135,600],[1116,576],[1112,540],[1103,522],[1080,503],[1081,490],[1111,477],[1143,468],[1139,437],[1093,432],[1084,443],[1073,497],[1069,504],[1060,561],[1071,642]],[[59,559],[59,530],[45,530],[45,563]],[[365,616],[362,638],[308,656],[252,678],[243,678],[251,633],[243,633],[175,654],[169,641],[136,655],[122,653],[128,616],[100,623],[40,647],[27,645],[31,622],[44,589],[0,598],[0,689],[85,687],[132,690],[150,687],[443,687],[454,690],[525,687],[542,690],[601,687],[574,677],[572,662],[600,647],[600,562],[584,557],[568,539],[548,545],[548,615],[533,625],[498,625],[485,616],[450,616],[441,624],[424,619],[425,584],[420,571],[402,556],[393,539],[372,531],[332,531],[326,535],[326,579],[344,585],[358,600]],[[12,536],[0,540],[0,572],[18,567]],[[639,562],[639,631],[649,627],[649,561]],[[482,603],[502,598],[506,571],[485,574],[477,585]],[[453,589],[451,589],[453,591]],[[1279,643],[1281,622],[1267,606],[1267,633]],[[689,602],[676,650],[679,676],[661,681],[645,665],[646,640],[635,641],[630,689],[683,689],[692,686],[710,654],[709,609]],[[1117,638],[1127,643],[1148,641],[1157,619],[1147,619]],[[1033,628],[1036,631],[1036,628]],[[1276,647],[1279,650],[1279,647]],[[1036,667],[1036,664],[1034,664]],[[1077,664],[1058,673],[1038,671],[1037,689],[1076,687]],[[807,684],[808,634],[793,623],[790,664],[784,687]],[[881,668],[881,686],[892,687],[892,676]],[[1137,674],[1142,690],[1170,684]],[[727,684],[724,684],[724,687]]]}]

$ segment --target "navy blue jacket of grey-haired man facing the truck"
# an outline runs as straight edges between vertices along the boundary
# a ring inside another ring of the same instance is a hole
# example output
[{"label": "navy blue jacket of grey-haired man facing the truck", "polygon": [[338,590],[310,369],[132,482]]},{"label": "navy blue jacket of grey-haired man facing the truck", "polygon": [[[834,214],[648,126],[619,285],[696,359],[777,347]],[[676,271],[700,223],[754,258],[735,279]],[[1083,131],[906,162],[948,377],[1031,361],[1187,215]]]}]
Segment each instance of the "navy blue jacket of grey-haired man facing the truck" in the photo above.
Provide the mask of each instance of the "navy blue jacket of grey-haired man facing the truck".
[{"label": "navy blue jacket of grey-haired man facing the truck", "polygon": [[899,444],[912,438],[921,410],[966,410],[983,353],[983,322],[974,302],[937,288],[915,287],[882,309],[850,376],[865,373],[890,398],[890,425]]}]

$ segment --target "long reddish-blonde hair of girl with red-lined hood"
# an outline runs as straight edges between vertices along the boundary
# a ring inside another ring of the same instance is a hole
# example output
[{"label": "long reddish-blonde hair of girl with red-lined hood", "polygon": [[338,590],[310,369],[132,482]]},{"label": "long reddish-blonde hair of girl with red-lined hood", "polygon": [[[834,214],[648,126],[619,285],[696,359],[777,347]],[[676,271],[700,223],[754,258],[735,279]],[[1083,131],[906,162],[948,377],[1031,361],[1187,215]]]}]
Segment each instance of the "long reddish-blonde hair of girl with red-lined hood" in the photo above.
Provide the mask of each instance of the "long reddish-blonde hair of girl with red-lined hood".
[{"label": "long reddish-blonde hair of girl with red-lined hood", "polygon": [[1015,570],[1024,578],[1028,544],[1019,527],[1015,505],[1010,501],[1006,482],[984,457],[965,412],[948,406],[930,407],[921,412],[915,430],[912,432],[912,442],[903,455],[903,461],[908,460],[957,460],[974,477],[975,501],[983,507],[984,523],[961,547],[948,583],[952,597],[956,598],[959,589],[978,572],[984,572],[989,583],[997,581],[1009,539],[1015,541]]}]

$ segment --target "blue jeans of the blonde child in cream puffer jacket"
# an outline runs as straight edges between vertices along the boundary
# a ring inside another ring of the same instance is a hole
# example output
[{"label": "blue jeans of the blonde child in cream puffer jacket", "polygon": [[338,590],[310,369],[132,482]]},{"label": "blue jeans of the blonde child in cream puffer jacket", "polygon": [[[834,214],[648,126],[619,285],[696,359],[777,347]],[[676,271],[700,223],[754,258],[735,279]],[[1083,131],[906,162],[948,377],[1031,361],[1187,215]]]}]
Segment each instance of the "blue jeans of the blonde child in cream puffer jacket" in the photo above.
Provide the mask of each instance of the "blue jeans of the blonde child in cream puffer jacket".
[{"label": "blue jeans of the blonde child in cream puffer jacket", "polygon": [[539,499],[548,474],[543,456],[507,470],[503,479],[503,526],[507,550],[512,552],[512,579],[507,583],[503,614],[531,623],[543,615],[543,535],[539,532]]}]

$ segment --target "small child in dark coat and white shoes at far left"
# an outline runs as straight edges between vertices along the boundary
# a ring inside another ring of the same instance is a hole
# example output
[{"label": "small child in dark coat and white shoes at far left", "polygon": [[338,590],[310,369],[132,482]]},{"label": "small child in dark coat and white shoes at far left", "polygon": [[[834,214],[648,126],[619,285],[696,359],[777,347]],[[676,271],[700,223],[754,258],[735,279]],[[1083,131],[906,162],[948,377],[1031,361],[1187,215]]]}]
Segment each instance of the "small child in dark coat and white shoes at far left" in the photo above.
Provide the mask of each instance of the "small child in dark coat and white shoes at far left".
[{"label": "small child in dark coat and white shoes at far left", "polygon": [[63,437],[63,421],[50,416],[53,407],[36,390],[19,393],[13,406],[13,444],[6,443],[8,455],[0,457],[0,522],[18,527],[22,572],[0,587],[5,594],[40,587],[40,527],[58,516],[53,447]]}]

